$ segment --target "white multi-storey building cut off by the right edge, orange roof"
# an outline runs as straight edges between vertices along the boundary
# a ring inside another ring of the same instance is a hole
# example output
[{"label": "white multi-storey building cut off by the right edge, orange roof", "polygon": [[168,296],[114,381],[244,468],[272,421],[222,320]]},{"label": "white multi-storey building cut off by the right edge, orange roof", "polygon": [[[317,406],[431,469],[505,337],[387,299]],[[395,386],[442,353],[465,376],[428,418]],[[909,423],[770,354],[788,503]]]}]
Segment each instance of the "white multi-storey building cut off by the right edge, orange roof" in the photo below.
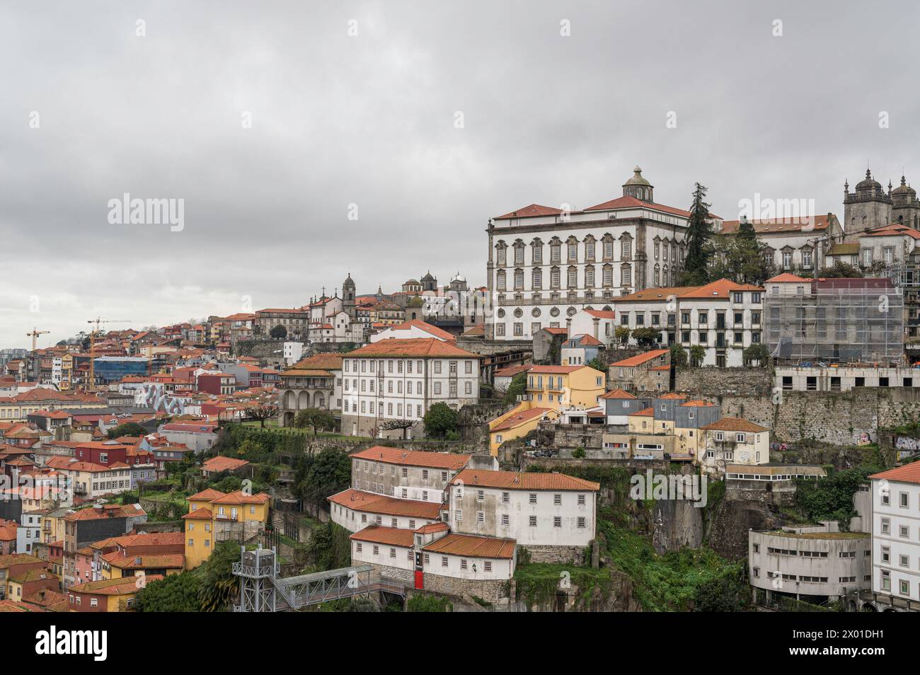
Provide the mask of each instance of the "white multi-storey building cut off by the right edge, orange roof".
[{"label": "white multi-storey building cut off by the right edge, orange roof", "polygon": [[920,601],[920,463],[872,479],[872,590]]}]

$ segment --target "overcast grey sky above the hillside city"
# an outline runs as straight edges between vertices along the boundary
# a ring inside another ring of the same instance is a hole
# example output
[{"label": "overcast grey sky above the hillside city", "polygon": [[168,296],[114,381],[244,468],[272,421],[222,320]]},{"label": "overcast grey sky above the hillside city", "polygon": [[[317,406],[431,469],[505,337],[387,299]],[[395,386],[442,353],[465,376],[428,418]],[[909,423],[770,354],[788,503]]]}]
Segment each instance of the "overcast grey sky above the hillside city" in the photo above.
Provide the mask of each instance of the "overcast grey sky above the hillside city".
[{"label": "overcast grey sky above the hillside city", "polygon": [[[839,0],[6,0],[0,347],[299,306],[349,271],[479,285],[490,216],[613,199],[637,164],[663,204],[698,180],[726,218],[756,192],[842,218],[867,162],[920,185],[918,23]],[[109,223],[124,193],[184,200],[183,229]]]}]

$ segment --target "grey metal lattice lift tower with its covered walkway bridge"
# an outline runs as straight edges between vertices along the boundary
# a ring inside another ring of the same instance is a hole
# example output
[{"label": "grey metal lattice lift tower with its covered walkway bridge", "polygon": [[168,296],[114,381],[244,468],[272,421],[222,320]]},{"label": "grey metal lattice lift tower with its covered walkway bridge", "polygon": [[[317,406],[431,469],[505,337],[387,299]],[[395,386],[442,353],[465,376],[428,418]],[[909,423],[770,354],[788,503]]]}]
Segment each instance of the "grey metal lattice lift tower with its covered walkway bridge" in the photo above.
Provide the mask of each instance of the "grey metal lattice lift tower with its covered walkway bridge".
[{"label": "grey metal lattice lift tower with its covered walkway bridge", "polygon": [[353,598],[375,591],[406,595],[406,584],[380,577],[370,565],[340,567],[282,578],[273,550],[243,551],[233,564],[240,578],[239,604],[234,612],[284,612],[300,610],[320,602]]}]

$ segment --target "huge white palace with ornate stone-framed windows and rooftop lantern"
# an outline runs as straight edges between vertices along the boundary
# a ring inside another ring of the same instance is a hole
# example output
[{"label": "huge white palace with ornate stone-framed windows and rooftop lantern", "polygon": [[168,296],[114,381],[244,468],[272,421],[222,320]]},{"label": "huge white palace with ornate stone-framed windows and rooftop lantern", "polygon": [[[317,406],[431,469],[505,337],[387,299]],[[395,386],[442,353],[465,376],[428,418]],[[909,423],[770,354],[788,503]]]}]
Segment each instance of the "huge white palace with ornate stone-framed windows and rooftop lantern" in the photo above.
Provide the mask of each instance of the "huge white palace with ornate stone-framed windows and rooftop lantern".
[{"label": "huge white palace with ornate stone-framed windows and rooftop lantern", "polygon": [[637,166],[623,196],[581,211],[531,204],[489,221],[489,339],[527,340],[582,308],[673,286],[690,213],[655,203]]}]

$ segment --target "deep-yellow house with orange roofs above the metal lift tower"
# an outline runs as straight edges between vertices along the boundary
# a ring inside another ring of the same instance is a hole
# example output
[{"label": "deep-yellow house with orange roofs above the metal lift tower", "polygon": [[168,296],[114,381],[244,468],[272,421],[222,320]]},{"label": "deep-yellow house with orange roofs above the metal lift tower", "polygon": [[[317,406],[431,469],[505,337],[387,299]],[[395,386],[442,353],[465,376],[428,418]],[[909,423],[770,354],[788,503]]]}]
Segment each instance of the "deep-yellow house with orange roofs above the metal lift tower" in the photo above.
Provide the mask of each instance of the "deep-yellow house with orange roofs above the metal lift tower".
[{"label": "deep-yellow house with orange roofs above the metal lift tower", "polygon": [[224,539],[248,539],[265,530],[271,498],[264,492],[247,495],[242,490],[224,494],[208,488],[189,498],[185,521],[185,568],[194,569],[211,556],[214,544]]}]

